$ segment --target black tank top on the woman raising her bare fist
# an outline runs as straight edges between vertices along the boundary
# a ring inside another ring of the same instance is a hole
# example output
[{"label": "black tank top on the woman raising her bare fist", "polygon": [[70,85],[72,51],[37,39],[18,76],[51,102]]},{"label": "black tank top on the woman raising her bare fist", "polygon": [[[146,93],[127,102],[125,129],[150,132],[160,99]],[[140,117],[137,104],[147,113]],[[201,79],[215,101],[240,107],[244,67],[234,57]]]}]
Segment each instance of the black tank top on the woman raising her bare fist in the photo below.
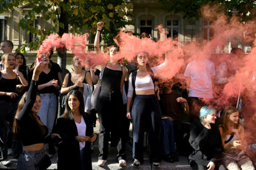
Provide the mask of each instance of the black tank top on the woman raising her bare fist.
[{"label": "black tank top on the woman raising her bare fist", "polygon": [[112,70],[105,67],[102,75],[101,90],[120,91],[122,74],[122,70]]}]

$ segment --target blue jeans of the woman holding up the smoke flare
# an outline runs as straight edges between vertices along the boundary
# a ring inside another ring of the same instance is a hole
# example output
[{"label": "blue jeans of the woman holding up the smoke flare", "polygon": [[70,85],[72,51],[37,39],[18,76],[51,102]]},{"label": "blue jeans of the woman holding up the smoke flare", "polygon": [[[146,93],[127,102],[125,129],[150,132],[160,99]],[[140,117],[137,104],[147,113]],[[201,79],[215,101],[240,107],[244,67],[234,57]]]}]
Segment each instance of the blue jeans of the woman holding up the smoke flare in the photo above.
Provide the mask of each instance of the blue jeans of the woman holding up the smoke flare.
[{"label": "blue jeans of the woman holding up the smoke flare", "polygon": [[[29,153],[29,155],[27,153]],[[39,163],[44,155],[44,149],[39,151],[23,151],[21,155],[19,155],[17,170],[35,170],[35,162]]]}]

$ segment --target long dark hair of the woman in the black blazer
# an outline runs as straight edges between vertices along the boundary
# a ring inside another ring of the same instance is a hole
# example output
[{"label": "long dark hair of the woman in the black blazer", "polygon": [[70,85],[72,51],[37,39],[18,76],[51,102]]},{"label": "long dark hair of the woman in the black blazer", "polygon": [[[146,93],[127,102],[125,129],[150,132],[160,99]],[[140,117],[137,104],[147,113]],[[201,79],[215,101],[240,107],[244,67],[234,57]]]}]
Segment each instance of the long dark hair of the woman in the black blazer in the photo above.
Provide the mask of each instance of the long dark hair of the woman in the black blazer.
[{"label": "long dark hair of the woman in the black blazer", "polygon": [[66,107],[65,107],[65,111],[63,113],[64,117],[66,119],[71,119],[71,120],[74,119],[73,114],[72,114],[71,109],[70,109],[69,104],[68,104],[70,95],[74,95],[74,96],[77,97],[78,101],[80,102],[79,112],[81,113],[82,116],[87,117],[88,113],[85,112],[85,103],[84,103],[84,100],[83,100],[83,94],[81,92],[79,92],[78,90],[72,90],[69,93],[67,93]]}]

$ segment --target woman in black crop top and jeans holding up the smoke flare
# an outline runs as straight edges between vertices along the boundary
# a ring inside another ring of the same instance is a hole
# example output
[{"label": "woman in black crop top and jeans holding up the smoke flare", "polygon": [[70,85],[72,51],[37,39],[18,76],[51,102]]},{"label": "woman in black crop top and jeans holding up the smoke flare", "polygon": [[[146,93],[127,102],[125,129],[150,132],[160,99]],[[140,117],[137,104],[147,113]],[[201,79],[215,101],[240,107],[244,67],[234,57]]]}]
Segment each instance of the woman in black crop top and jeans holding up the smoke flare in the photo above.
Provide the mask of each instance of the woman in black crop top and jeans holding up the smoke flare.
[{"label": "woman in black crop top and jeans holding up the smoke flare", "polygon": [[[36,115],[41,107],[41,98],[37,93],[38,79],[44,63],[40,62],[33,71],[31,85],[18,104],[15,115],[13,134],[16,140],[23,144],[23,152],[19,156],[17,170],[47,169],[50,166],[50,158],[43,149],[46,140],[59,137],[58,134],[48,134],[48,128]],[[45,162],[42,162],[45,161]]]}]

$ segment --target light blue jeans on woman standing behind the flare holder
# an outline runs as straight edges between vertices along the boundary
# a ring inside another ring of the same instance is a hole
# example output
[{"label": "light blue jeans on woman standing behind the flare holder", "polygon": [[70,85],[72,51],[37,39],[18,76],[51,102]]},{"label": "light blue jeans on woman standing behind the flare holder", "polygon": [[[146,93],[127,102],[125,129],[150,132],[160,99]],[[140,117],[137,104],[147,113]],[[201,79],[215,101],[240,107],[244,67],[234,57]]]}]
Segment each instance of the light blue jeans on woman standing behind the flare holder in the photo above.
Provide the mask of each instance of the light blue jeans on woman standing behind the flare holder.
[{"label": "light blue jeans on woman standing behind the flare holder", "polygon": [[40,117],[41,122],[47,126],[48,135],[51,134],[53,130],[56,109],[57,109],[57,100],[54,93],[43,93],[41,96],[41,107],[37,116]]}]

